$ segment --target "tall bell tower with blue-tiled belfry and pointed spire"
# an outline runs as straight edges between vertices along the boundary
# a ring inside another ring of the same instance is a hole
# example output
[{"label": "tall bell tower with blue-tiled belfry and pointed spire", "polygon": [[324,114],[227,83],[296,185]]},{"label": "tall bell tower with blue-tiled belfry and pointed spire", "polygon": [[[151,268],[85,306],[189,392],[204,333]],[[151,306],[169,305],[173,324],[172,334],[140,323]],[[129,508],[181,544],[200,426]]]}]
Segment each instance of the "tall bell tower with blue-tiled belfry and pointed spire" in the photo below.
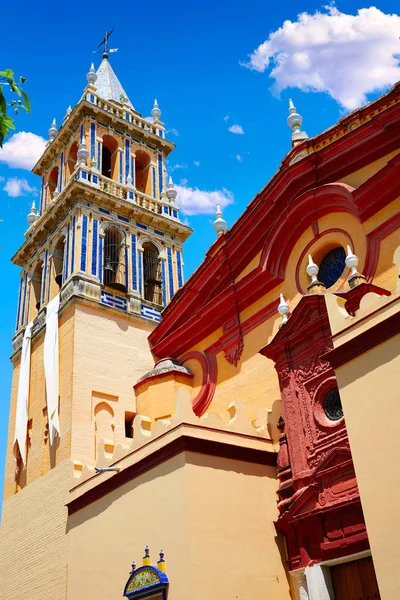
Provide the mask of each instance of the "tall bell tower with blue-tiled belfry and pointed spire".
[{"label": "tall bell tower with blue-tiled belfry and pointed spire", "polygon": [[[147,337],[183,285],[182,248],[191,229],[181,223],[177,192],[166,180],[175,146],[165,138],[156,100],[151,115],[134,108],[104,52],[81,100],[49,129],[33,169],[40,204],[32,206],[13,257],[21,284],[3,546],[18,554],[6,563],[24,564],[27,572],[28,550],[14,537],[38,546],[35,560],[43,555],[43,585],[48,581],[54,597],[64,597],[71,473],[95,464],[100,437],[110,452],[132,437],[133,385],[154,364]],[[53,545],[52,560],[42,538]]]}]

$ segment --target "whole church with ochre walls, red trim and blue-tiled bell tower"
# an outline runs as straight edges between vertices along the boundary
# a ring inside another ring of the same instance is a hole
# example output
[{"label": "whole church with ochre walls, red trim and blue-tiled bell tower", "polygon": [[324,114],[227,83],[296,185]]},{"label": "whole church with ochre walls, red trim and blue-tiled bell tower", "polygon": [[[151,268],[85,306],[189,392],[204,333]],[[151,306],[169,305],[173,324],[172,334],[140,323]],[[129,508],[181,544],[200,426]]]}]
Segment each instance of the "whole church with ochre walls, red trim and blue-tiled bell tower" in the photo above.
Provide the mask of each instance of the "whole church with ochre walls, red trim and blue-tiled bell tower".
[{"label": "whole church with ochre walls, red trim and blue-tiled bell tower", "polygon": [[151,114],[105,49],[33,168],[0,598],[394,600],[400,84],[314,138],[290,101],[186,284]]}]

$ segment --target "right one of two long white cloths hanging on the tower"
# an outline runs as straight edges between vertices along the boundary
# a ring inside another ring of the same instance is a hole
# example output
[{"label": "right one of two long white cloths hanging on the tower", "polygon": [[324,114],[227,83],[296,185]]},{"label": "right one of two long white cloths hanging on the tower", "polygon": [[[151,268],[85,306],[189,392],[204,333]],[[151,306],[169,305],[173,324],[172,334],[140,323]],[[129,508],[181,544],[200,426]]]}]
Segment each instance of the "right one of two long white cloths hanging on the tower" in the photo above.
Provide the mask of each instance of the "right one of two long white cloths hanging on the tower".
[{"label": "right one of two long white cloths hanging on the tower", "polygon": [[58,309],[60,294],[51,300],[46,309],[46,334],[44,336],[44,374],[46,379],[47,418],[49,421],[50,444],[57,432],[60,435],[58,417]]}]

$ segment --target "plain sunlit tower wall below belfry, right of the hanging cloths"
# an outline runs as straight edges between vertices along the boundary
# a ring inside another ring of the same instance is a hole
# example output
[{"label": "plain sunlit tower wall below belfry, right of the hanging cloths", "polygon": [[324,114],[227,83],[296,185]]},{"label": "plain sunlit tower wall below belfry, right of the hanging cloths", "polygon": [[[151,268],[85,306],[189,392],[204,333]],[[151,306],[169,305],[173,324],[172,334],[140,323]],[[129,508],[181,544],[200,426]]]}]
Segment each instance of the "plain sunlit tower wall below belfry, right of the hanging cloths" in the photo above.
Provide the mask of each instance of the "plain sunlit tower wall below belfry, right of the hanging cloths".
[{"label": "plain sunlit tower wall below belfry, right of the hanging cloths", "polygon": [[136,412],[133,385],[154,366],[147,337],[152,325],[107,310],[76,305],[72,459],[95,464],[96,406],[113,413],[111,441],[125,443],[125,411]]}]

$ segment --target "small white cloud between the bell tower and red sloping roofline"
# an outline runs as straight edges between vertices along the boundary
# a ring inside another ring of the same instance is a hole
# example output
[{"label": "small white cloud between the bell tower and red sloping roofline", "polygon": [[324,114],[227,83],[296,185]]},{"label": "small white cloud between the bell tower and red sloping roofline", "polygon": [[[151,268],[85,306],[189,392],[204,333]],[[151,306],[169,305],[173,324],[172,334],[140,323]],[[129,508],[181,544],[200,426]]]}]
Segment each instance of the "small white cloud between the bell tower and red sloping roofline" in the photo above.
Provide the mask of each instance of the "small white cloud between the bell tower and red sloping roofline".
[{"label": "small white cloud between the bell tower and red sloping roofline", "polygon": [[185,215],[214,214],[217,204],[224,208],[233,203],[233,194],[226,189],[207,192],[181,185],[175,187],[176,203]]}]

